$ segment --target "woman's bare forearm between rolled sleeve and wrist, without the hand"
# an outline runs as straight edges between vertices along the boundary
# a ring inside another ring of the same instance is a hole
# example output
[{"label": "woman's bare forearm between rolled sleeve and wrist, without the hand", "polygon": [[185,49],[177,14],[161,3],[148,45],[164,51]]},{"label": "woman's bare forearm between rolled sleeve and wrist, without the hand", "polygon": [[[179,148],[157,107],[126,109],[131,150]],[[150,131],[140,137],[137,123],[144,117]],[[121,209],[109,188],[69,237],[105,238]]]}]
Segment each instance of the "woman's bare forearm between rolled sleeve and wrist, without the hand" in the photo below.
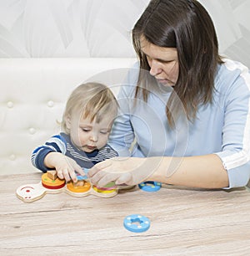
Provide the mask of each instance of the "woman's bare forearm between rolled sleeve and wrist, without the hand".
[{"label": "woman's bare forearm between rolled sleeve and wrist, without the hand", "polygon": [[186,156],[179,159],[163,157],[162,164],[156,172],[153,172],[150,179],[186,187],[223,188],[229,186],[228,172],[215,154]]}]

